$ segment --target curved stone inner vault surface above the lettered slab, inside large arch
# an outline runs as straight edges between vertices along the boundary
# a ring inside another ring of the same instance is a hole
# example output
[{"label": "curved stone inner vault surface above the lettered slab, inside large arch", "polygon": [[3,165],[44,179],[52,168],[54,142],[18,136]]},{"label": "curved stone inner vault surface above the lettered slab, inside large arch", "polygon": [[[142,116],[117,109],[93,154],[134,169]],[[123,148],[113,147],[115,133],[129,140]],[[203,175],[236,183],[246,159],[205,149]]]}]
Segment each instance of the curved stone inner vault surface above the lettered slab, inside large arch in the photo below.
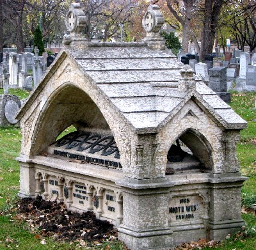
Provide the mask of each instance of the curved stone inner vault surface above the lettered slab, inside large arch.
[{"label": "curved stone inner vault surface above the lettered slab, inside large arch", "polygon": [[92,98],[72,82],[67,82],[55,90],[45,103],[44,112],[38,117],[31,154],[36,155],[47,150],[69,125],[81,130],[93,128],[100,132],[111,132]]}]

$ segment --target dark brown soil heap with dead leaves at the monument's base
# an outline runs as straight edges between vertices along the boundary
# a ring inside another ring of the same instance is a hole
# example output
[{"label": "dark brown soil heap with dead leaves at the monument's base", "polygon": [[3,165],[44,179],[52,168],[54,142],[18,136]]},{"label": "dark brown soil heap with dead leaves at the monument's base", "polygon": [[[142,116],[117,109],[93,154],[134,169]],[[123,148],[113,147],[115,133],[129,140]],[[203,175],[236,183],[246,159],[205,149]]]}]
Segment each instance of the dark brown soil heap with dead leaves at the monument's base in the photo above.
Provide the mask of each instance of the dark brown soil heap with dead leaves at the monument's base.
[{"label": "dark brown soil heap with dead leaves at the monument's base", "polygon": [[99,243],[117,238],[113,225],[96,219],[90,211],[83,214],[71,212],[63,203],[44,201],[41,196],[20,199],[17,207],[17,216],[26,219],[31,228],[42,236],[65,242],[86,240]]}]

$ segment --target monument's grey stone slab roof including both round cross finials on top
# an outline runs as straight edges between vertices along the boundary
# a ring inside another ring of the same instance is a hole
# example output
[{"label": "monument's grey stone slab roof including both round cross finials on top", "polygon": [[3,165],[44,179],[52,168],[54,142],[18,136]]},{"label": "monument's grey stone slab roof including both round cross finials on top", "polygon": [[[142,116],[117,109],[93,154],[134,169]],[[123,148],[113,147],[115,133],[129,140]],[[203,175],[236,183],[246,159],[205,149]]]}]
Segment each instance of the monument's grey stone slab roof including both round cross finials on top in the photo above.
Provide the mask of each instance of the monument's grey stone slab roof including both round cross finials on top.
[{"label": "monument's grey stone slab roof including both round cross finials on top", "polygon": [[147,33],[143,42],[87,42],[81,33],[85,22],[81,6],[72,4],[66,18],[70,33],[63,38],[65,48],[49,67],[18,118],[68,57],[138,132],[157,132],[191,98],[225,129],[246,127],[246,121],[201,79],[195,79],[191,68],[186,68],[165,47],[158,33],[164,22],[158,6],[150,5],[143,17]]}]

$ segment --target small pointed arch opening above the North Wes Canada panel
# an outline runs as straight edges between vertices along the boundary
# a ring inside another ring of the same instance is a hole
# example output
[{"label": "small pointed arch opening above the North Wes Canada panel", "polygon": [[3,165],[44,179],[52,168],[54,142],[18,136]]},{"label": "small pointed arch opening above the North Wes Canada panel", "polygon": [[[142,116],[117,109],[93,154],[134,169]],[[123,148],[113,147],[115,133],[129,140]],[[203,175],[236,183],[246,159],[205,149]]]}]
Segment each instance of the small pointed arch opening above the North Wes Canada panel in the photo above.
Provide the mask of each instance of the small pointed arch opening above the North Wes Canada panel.
[{"label": "small pointed arch opening above the North Wes Canada panel", "polygon": [[212,171],[212,150],[197,130],[188,129],[175,139],[167,153],[166,175]]}]

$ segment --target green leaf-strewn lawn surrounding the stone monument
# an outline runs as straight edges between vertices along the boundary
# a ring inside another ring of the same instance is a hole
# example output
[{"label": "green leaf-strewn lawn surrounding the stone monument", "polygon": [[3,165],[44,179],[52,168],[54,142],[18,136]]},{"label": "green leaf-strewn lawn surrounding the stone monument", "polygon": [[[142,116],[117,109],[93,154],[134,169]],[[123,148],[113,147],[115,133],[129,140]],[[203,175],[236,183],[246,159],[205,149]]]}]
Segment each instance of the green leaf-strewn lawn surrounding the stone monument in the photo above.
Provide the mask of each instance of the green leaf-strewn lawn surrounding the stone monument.
[{"label": "green leaf-strewn lawn surrounding the stone monument", "polygon": [[[0,90],[3,93],[3,90]],[[29,92],[10,89],[10,94],[17,95],[20,98],[27,98]],[[256,203],[256,111],[253,109],[255,105],[256,93],[232,93],[232,102],[230,105],[244,120],[248,122],[248,128],[241,131],[241,140],[237,143],[237,158],[241,166],[243,175],[248,176],[248,180],[244,182],[242,188],[242,200],[246,207]],[[74,127],[68,127],[59,136],[76,130]],[[65,249],[76,250],[81,249],[79,242],[73,245],[54,242],[49,238],[45,238],[46,244],[42,244],[35,237],[36,233],[29,231],[28,224],[19,221],[13,215],[7,215],[6,212],[13,210],[16,201],[16,195],[19,191],[19,165],[15,157],[20,153],[21,133],[20,129],[0,128],[0,250],[1,249]],[[254,214],[243,214],[246,221],[246,237],[237,237],[232,235],[230,239],[225,240],[215,249],[233,250],[256,249],[256,217]],[[108,247],[109,246],[109,247]],[[84,247],[86,248],[86,247]],[[123,249],[120,242],[106,242],[101,246],[90,247],[88,249]],[[204,247],[204,249],[210,249]],[[212,248],[211,248],[212,249]]]}]

